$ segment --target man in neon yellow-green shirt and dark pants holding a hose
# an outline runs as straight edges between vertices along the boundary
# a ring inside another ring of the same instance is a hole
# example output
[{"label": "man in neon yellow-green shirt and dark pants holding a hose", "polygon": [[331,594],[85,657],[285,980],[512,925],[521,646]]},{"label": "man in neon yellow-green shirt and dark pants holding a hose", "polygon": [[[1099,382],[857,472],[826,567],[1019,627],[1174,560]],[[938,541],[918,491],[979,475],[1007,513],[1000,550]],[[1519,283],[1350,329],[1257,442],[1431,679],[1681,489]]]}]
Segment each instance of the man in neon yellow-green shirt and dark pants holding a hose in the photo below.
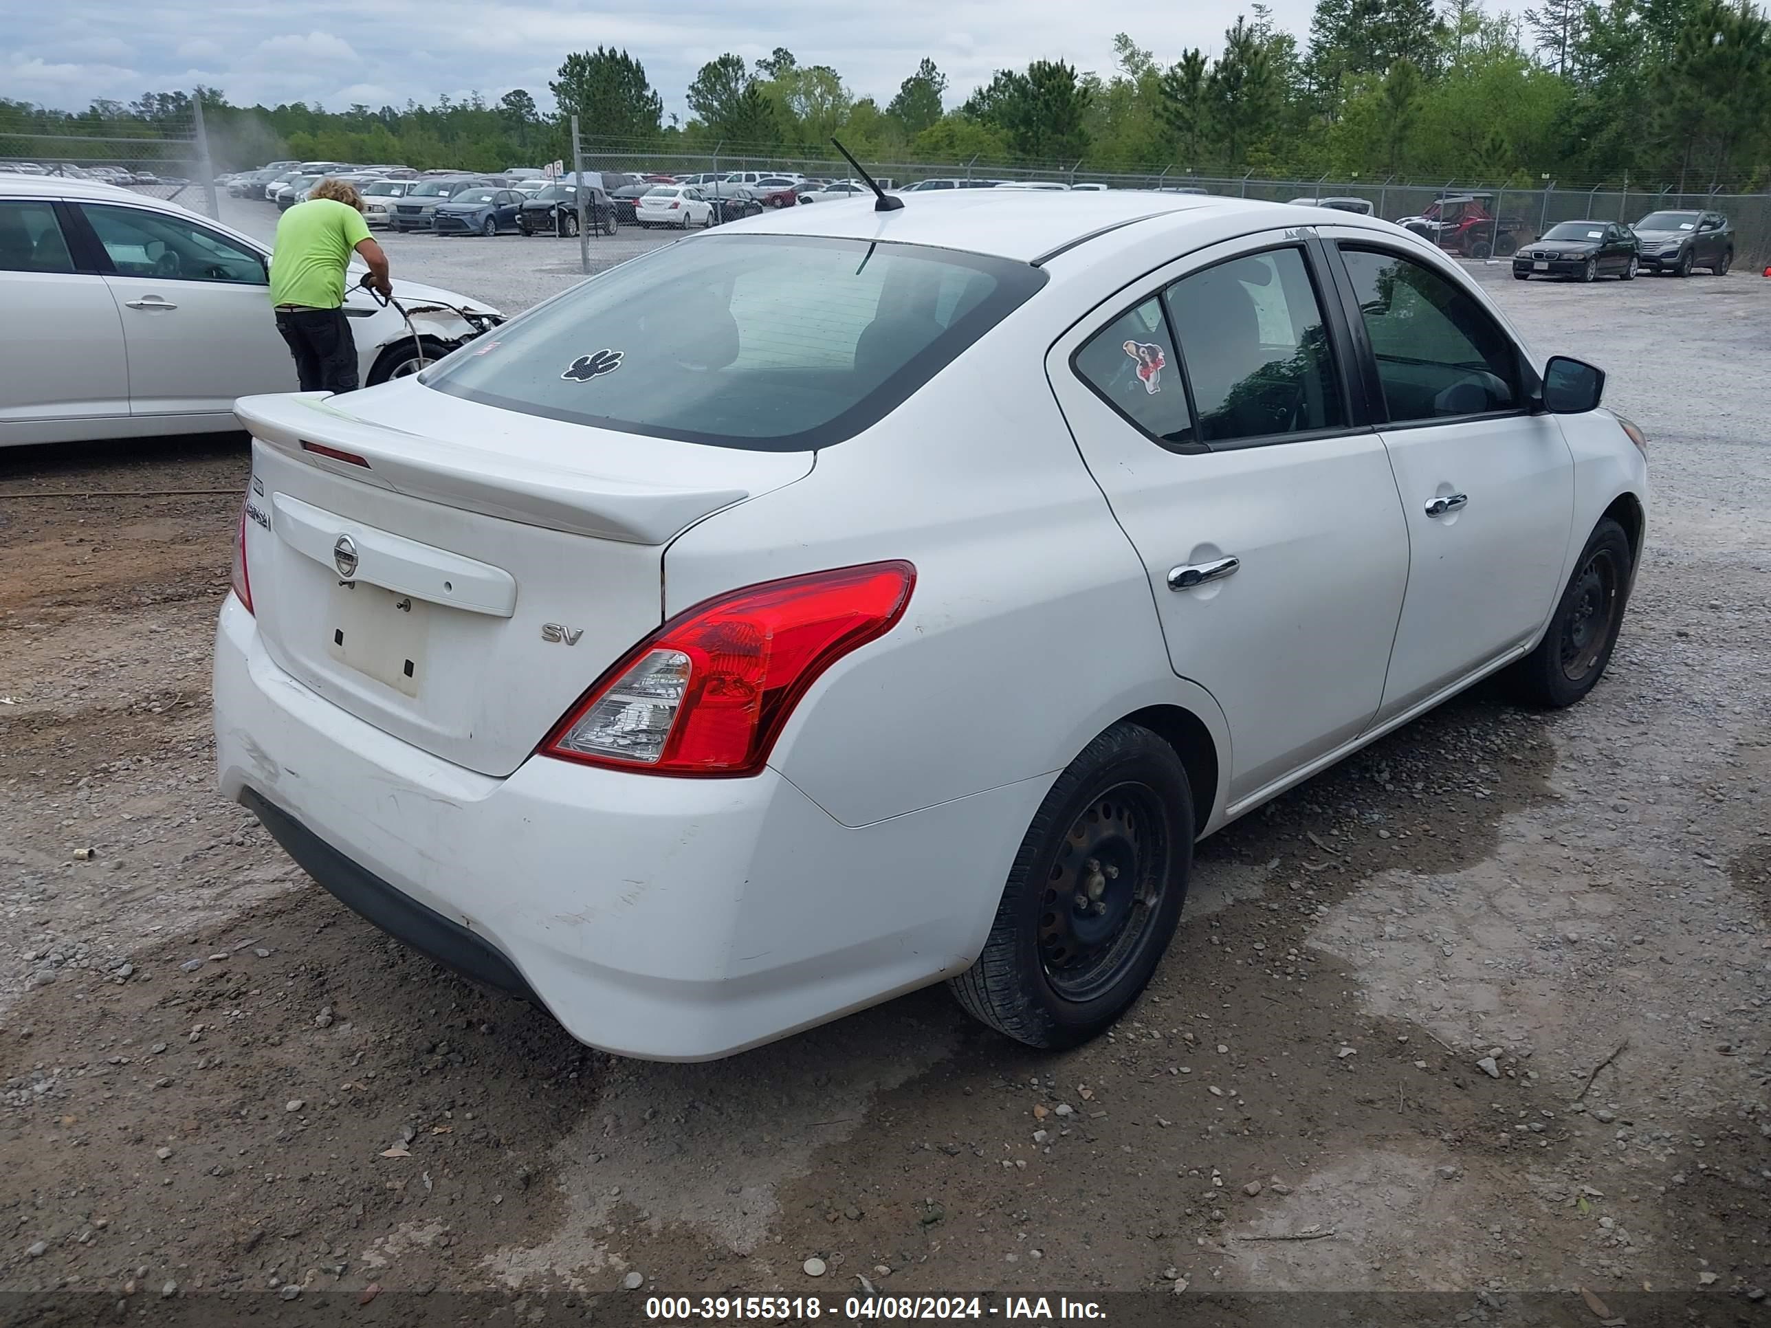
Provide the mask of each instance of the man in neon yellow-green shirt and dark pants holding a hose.
[{"label": "man in neon yellow-green shirt and dark pants holding a hose", "polygon": [[370,285],[393,292],[388,255],[363,221],[363,200],[344,181],[321,181],[308,200],[276,223],[271,253],[271,305],[276,331],[296,358],[301,391],[356,391],[356,338],[344,315],[351,253],[368,264]]}]

